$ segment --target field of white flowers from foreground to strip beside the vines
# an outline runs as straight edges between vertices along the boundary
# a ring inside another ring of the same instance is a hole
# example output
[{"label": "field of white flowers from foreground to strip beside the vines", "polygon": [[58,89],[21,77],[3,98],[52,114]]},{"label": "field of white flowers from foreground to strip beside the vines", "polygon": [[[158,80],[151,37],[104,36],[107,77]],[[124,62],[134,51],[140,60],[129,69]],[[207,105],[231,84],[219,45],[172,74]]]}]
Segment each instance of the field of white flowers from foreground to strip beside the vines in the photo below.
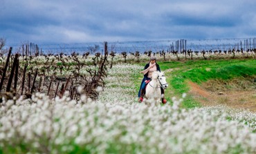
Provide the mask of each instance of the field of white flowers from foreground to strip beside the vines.
[{"label": "field of white flowers from foreground to strip beside the vines", "polygon": [[4,101],[0,153],[256,153],[255,113],[188,110],[175,97],[173,105],[139,104],[132,76],[141,69],[113,66],[95,102],[41,93]]}]

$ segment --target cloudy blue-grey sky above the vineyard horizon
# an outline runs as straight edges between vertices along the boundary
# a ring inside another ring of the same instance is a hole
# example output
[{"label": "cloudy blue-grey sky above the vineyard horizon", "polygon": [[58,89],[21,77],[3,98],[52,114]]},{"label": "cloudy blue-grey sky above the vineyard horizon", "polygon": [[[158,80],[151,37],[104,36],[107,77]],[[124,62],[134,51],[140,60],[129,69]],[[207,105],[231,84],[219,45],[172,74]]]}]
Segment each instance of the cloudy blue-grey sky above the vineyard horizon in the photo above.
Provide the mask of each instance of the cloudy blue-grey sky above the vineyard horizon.
[{"label": "cloudy blue-grey sky above the vineyard horizon", "polygon": [[8,44],[256,37],[255,0],[1,0]]}]

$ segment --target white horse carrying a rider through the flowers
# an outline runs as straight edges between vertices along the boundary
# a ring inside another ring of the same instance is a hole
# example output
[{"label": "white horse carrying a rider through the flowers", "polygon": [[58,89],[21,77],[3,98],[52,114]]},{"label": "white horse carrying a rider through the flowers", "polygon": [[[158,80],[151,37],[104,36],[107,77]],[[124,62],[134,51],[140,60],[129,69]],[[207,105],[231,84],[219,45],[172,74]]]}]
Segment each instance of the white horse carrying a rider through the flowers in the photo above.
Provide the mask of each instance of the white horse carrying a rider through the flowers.
[{"label": "white horse carrying a rider through the flowers", "polygon": [[166,82],[165,73],[154,71],[152,73],[152,80],[147,84],[144,98],[149,102],[153,101],[156,104],[160,104],[162,99],[161,88],[165,89],[167,86],[168,84]]}]

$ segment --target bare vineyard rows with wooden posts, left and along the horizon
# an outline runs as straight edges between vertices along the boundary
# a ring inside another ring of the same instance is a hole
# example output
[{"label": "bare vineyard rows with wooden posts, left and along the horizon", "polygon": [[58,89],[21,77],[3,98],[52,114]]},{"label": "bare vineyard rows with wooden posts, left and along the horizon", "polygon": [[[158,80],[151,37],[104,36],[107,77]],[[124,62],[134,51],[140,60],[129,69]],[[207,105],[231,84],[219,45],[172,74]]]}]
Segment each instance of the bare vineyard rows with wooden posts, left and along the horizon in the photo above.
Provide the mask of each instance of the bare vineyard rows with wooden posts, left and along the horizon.
[{"label": "bare vineyard rows with wooden posts, left and along the horizon", "polygon": [[[121,52],[108,53],[107,42],[104,43],[104,53],[97,52],[94,55],[84,52],[83,55],[73,52],[66,55],[63,52],[57,55],[42,54],[35,44],[26,45],[22,54],[12,54],[12,48],[8,55],[1,55],[1,83],[0,91],[6,92],[6,97],[19,97],[21,95],[30,98],[34,92],[46,93],[51,98],[62,97],[68,90],[71,99],[79,98],[78,85],[84,85],[84,93],[96,99],[98,93],[95,88],[104,86],[104,77],[107,76],[107,68],[118,62],[139,63],[147,61],[152,55],[163,61],[180,61],[186,59],[255,59],[256,48],[251,50],[201,51],[192,50],[152,52]],[[110,58],[108,58],[110,57]],[[20,61],[20,62],[19,62]],[[8,71],[9,70],[9,71]],[[13,81],[13,83],[12,83]],[[13,85],[12,85],[13,84]],[[11,93],[10,93],[11,92]]]}]

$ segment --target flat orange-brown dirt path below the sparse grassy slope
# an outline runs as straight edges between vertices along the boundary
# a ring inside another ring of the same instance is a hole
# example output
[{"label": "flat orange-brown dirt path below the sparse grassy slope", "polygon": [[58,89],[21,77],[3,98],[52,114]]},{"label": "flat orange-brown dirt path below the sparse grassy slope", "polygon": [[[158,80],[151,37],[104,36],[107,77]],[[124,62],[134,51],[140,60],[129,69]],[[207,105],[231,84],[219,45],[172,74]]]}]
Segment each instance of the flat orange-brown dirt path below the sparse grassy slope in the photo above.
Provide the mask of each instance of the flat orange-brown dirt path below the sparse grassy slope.
[{"label": "flat orange-brown dirt path below the sparse grassy slope", "polygon": [[226,104],[233,108],[245,108],[256,112],[256,90],[210,91],[188,81],[190,94],[203,106]]}]

